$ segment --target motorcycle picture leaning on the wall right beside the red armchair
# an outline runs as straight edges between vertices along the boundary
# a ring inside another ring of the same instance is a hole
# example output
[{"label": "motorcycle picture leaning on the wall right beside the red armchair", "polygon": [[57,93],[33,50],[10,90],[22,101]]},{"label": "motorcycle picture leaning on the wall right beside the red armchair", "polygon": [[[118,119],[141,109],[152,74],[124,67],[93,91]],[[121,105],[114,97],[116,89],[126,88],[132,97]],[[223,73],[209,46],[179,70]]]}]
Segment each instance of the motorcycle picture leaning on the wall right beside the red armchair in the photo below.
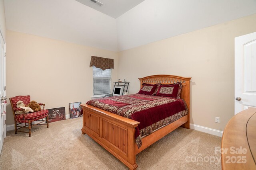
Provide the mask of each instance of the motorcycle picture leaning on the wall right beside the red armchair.
[{"label": "motorcycle picture leaning on the wall right beside the red armchair", "polygon": [[49,110],[49,113],[48,113],[49,122],[66,119],[65,107],[58,107],[58,108],[53,108],[48,110]]}]

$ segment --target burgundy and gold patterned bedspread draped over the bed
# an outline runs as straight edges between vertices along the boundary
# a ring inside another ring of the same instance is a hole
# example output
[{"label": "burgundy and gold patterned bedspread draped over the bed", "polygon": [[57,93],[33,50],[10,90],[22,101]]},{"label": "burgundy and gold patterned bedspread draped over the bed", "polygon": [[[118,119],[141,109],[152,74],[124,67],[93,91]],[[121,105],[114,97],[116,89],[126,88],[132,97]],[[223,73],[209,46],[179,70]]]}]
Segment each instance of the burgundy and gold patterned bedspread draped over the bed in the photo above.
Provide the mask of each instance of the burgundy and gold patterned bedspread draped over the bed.
[{"label": "burgundy and gold patterned bedspread draped over the bed", "polygon": [[143,136],[188,114],[183,99],[144,94],[94,99],[86,104],[140,122],[135,132],[138,148]]}]

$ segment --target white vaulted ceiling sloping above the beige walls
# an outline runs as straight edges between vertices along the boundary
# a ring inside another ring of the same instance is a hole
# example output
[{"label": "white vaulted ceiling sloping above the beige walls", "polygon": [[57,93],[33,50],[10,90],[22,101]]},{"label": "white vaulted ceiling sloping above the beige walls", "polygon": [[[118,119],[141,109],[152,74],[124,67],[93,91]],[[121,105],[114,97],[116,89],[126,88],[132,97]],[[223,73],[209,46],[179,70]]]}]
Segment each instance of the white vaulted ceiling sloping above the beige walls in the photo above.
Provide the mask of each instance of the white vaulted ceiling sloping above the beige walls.
[{"label": "white vaulted ceiling sloping above the beige walls", "polygon": [[[89,1],[4,0],[6,28],[122,51],[256,14],[256,0],[102,0],[109,14]],[[129,8],[109,5],[119,1]]]}]

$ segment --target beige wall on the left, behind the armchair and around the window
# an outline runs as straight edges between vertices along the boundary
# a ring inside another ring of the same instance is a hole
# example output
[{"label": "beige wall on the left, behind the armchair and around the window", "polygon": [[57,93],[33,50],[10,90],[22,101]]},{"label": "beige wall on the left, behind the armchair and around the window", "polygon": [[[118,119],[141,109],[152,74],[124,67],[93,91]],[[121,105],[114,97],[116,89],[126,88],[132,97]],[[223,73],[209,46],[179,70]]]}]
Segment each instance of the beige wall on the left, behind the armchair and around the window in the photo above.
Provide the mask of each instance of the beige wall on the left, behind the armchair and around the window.
[{"label": "beige wall on the left, behind the armchair and around the window", "polygon": [[[114,59],[112,80],[117,80],[117,52],[7,30],[6,95],[30,95],[46,108],[90,100],[91,56]],[[14,124],[10,102],[7,125]]]}]

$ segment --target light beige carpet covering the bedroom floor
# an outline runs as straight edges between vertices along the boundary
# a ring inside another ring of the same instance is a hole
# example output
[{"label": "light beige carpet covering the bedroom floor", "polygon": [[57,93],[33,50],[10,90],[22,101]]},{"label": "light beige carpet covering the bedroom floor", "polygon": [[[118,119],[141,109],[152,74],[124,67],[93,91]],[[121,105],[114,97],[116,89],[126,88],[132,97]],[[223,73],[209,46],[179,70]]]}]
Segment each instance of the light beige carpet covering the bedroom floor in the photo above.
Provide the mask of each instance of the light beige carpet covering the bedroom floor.
[{"label": "light beige carpet covering the bedroom floor", "polygon": [[[88,135],[82,135],[81,128],[79,117],[50,123],[48,129],[39,127],[31,137],[8,131],[0,169],[128,169]],[[209,159],[220,159],[220,153],[214,152],[220,145],[220,137],[180,127],[136,156],[138,170],[219,170],[221,162]]]}]

